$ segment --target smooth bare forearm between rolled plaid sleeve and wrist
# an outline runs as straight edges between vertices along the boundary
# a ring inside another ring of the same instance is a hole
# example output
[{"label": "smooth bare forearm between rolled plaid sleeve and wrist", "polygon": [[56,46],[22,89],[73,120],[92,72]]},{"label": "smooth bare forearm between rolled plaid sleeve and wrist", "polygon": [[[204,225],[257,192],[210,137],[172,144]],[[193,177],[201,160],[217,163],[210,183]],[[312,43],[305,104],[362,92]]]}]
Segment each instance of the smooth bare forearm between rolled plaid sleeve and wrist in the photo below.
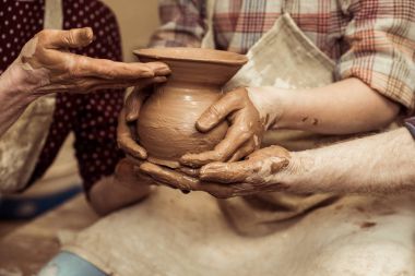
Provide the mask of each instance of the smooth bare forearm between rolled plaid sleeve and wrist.
[{"label": "smooth bare forearm between rolled plaid sleeve and wrist", "polygon": [[[274,115],[271,116],[272,129],[358,133],[388,125],[399,112],[398,104],[357,79],[311,89],[250,88],[250,95],[254,94],[252,101],[263,98],[272,103],[261,105],[269,109],[266,112]],[[261,94],[263,96],[259,96]]]}]

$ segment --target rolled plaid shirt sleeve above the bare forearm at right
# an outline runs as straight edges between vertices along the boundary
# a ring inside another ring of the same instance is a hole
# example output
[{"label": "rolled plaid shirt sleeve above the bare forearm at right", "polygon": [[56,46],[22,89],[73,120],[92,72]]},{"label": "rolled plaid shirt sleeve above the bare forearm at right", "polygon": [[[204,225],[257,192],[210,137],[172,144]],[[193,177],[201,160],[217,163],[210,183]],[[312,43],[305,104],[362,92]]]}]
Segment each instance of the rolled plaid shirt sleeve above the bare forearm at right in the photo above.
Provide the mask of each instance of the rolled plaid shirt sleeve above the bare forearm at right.
[{"label": "rolled plaid shirt sleeve above the bare forearm at right", "polygon": [[345,29],[349,50],[339,79],[357,77],[413,111],[415,107],[414,0],[353,0]]}]

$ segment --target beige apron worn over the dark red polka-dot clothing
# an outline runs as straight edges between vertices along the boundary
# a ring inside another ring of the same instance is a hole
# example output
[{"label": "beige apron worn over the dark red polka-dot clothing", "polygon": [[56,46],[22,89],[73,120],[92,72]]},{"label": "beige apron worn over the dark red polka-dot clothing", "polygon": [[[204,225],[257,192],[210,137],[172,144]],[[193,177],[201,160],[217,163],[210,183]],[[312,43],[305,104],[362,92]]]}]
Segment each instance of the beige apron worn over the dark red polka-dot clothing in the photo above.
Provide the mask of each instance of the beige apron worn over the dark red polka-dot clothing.
[{"label": "beige apron worn over the dark red polka-dot clothing", "polygon": [[[45,1],[44,28],[62,27],[61,0]],[[24,189],[45,145],[55,111],[55,95],[32,103],[0,137],[0,193]]]}]

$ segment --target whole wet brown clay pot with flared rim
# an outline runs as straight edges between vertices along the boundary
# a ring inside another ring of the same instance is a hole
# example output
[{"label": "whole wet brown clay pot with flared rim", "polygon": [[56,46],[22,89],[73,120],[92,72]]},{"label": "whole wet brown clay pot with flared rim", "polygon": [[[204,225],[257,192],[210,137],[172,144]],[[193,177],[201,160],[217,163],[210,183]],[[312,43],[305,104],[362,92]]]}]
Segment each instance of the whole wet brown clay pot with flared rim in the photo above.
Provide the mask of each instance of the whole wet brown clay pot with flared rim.
[{"label": "whole wet brown clay pot with flared rim", "polygon": [[200,48],[155,48],[134,53],[141,62],[162,61],[171,69],[168,81],[155,87],[140,111],[139,140],[149,160],[175,168],[186,153],[213,149],[226,134],[227,122],[201,133],[195,121],[221,97],[222,86],[247,58]]}]

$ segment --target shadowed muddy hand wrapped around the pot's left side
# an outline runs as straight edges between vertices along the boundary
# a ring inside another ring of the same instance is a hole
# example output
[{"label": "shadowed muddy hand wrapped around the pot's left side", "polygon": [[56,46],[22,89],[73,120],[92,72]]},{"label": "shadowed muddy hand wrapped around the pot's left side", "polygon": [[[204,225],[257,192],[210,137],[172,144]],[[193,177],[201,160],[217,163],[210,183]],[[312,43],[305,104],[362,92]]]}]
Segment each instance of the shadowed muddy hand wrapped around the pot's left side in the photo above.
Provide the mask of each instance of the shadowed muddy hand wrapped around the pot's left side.
[{"label": "shadowed muddy hand wrapped around the pot's left side", "polygon": [[147,153],[139,144],[137,122],[139,120],[140,109],[145,98],[149,96],[149,89],[140,87],[127,97],[124,106],[118,117],[117,141],[118,146],[128,155],[141,160],[147,158]]}]

